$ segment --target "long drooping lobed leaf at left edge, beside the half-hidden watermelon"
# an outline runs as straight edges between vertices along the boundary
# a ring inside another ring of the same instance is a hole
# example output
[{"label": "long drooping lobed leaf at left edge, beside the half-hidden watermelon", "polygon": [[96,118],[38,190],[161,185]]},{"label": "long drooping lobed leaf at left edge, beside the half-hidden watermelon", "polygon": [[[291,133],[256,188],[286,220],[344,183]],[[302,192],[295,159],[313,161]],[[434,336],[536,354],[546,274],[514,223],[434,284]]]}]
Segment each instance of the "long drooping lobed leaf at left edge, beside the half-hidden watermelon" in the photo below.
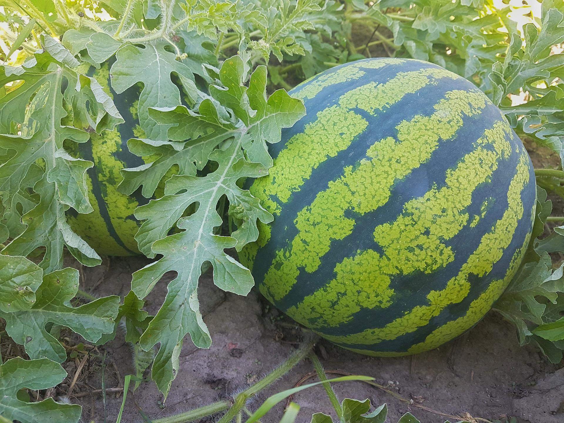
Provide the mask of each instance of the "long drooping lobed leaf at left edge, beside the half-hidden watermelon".
[{"label": "long drooping lobed leaf at left edge, beside the half-hidden watermelon", "polygon": [[[84,265],[95,266],[100,257],[70,230],[65,218],[71,207],[78,213],[92,211],[86,185],[92,162],[70,156],[64,143],[87,142],[87,129],[101,133],[123,120],[98,82],[69,68],[79,62],[67,49],[45,34],[42,42],[43,50],[21,67],[0,67],[0,85],[24,82],[0,98],[0,133],[19,131],[0,134],[7,152],[0,164],[5,219],[17,214],[25,187],[33,187],[39,196],[21,216],[24,226],[8,227],[13,240],[2,253],[25,256],[45,247],[39,266],[51,272],[61,268],[66,245]],[[37,166],[38,161],[44,165]]]}]

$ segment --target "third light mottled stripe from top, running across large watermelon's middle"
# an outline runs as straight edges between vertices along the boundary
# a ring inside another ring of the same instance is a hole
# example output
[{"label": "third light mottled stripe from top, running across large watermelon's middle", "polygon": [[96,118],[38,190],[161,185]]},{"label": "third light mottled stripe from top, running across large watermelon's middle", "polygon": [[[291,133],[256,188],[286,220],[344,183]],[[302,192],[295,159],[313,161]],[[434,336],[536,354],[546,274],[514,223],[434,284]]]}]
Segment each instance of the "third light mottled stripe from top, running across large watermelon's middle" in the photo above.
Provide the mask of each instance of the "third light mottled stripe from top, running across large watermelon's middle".
[{"label": "third light mottled stripe from top, running across large watermelon's middle", "polygon": [[[314,272],[331,241],[352,232],[355,221],[345,217],[345,211],[364,214],[386,204],[394,182],[429,160],[439,140],[450,140],[462,126],[462,118],[481,113],[486,100],[479,90],[448,91],[434,105],[431,116],[418,115],[401,122],[396,127],[397,140],[382,139],[368,149],[370,160],[347,166],[341,178],[329,182],[327,190],[299,211],[295,221],[298,234],[288,249],[276,252],[261,292],[271,301],[280,299],[296,283],[300,269]],[[392,271],[391,265],[388,271]]]}]

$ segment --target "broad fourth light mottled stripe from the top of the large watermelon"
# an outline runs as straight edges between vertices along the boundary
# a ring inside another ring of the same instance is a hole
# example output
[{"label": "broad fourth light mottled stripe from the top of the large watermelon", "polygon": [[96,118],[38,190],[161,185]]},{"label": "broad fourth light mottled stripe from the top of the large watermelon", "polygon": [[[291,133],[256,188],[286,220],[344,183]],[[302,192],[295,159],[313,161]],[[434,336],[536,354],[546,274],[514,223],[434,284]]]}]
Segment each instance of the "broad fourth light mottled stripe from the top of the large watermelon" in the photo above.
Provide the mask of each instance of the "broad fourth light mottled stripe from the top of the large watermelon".
[{"label": "broad fourth light mottled stripe from the top of the large watermelon", "polygon": [[287,314],[310,328],[336,327],[362,308],[392,305],[391,276],[430,273],[450,263],[454,254],[444,241],[468,223],[466,208],[472,204],[474,190],[491,178],[499,160],[510,156],[512,148],[506,138],[510,133],[505,121],[486,129],[473,143],[474,150],[462,157],[455,169],[447,171],[444,187],[431,188],[408,201],[394,222],[374,229],[374,241],[383,255],[364,250],[356,257],[345,258],[334,269],[335,279]]}]

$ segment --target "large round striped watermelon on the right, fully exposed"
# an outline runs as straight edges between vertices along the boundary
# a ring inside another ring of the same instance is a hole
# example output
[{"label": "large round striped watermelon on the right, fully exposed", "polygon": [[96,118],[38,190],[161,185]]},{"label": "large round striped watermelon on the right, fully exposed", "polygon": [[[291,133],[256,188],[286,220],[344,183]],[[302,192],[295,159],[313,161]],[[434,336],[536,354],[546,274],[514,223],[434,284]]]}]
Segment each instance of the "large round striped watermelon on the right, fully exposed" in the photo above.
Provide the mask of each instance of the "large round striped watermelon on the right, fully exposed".
[{"label": "large round striped watermelon on the right, fully exposed", "polygon": [[264,296],[370,355],[425,351],[479,321],[521,261],[535,178],[472,83],[366,59],[297,86],[307,115],[250,191],[275,216],[240,254]]}]

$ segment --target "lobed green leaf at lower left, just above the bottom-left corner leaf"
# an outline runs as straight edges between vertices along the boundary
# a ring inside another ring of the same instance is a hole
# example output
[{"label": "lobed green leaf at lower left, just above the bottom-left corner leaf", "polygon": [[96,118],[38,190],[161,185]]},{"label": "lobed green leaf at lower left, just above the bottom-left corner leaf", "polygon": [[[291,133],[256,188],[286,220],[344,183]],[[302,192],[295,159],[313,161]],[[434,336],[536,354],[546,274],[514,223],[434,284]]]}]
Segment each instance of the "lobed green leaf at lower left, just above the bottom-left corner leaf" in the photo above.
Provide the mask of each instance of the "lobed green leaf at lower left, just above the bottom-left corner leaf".
[{"label": "lobed green leaf at lower left, just above the bottom-left corner leaf", "polygon": [[36,301],[27,310],[5,312],[6,332],[32,359],[46,357],[58,363],[67,359],[63,345],[49,333],[49,325],[68,327],[85,340],[96,342],[112,333],[120,298],[99,298],[80,307],[70,305],[78,291],[78,270],[67,267],[43,276]]}]

